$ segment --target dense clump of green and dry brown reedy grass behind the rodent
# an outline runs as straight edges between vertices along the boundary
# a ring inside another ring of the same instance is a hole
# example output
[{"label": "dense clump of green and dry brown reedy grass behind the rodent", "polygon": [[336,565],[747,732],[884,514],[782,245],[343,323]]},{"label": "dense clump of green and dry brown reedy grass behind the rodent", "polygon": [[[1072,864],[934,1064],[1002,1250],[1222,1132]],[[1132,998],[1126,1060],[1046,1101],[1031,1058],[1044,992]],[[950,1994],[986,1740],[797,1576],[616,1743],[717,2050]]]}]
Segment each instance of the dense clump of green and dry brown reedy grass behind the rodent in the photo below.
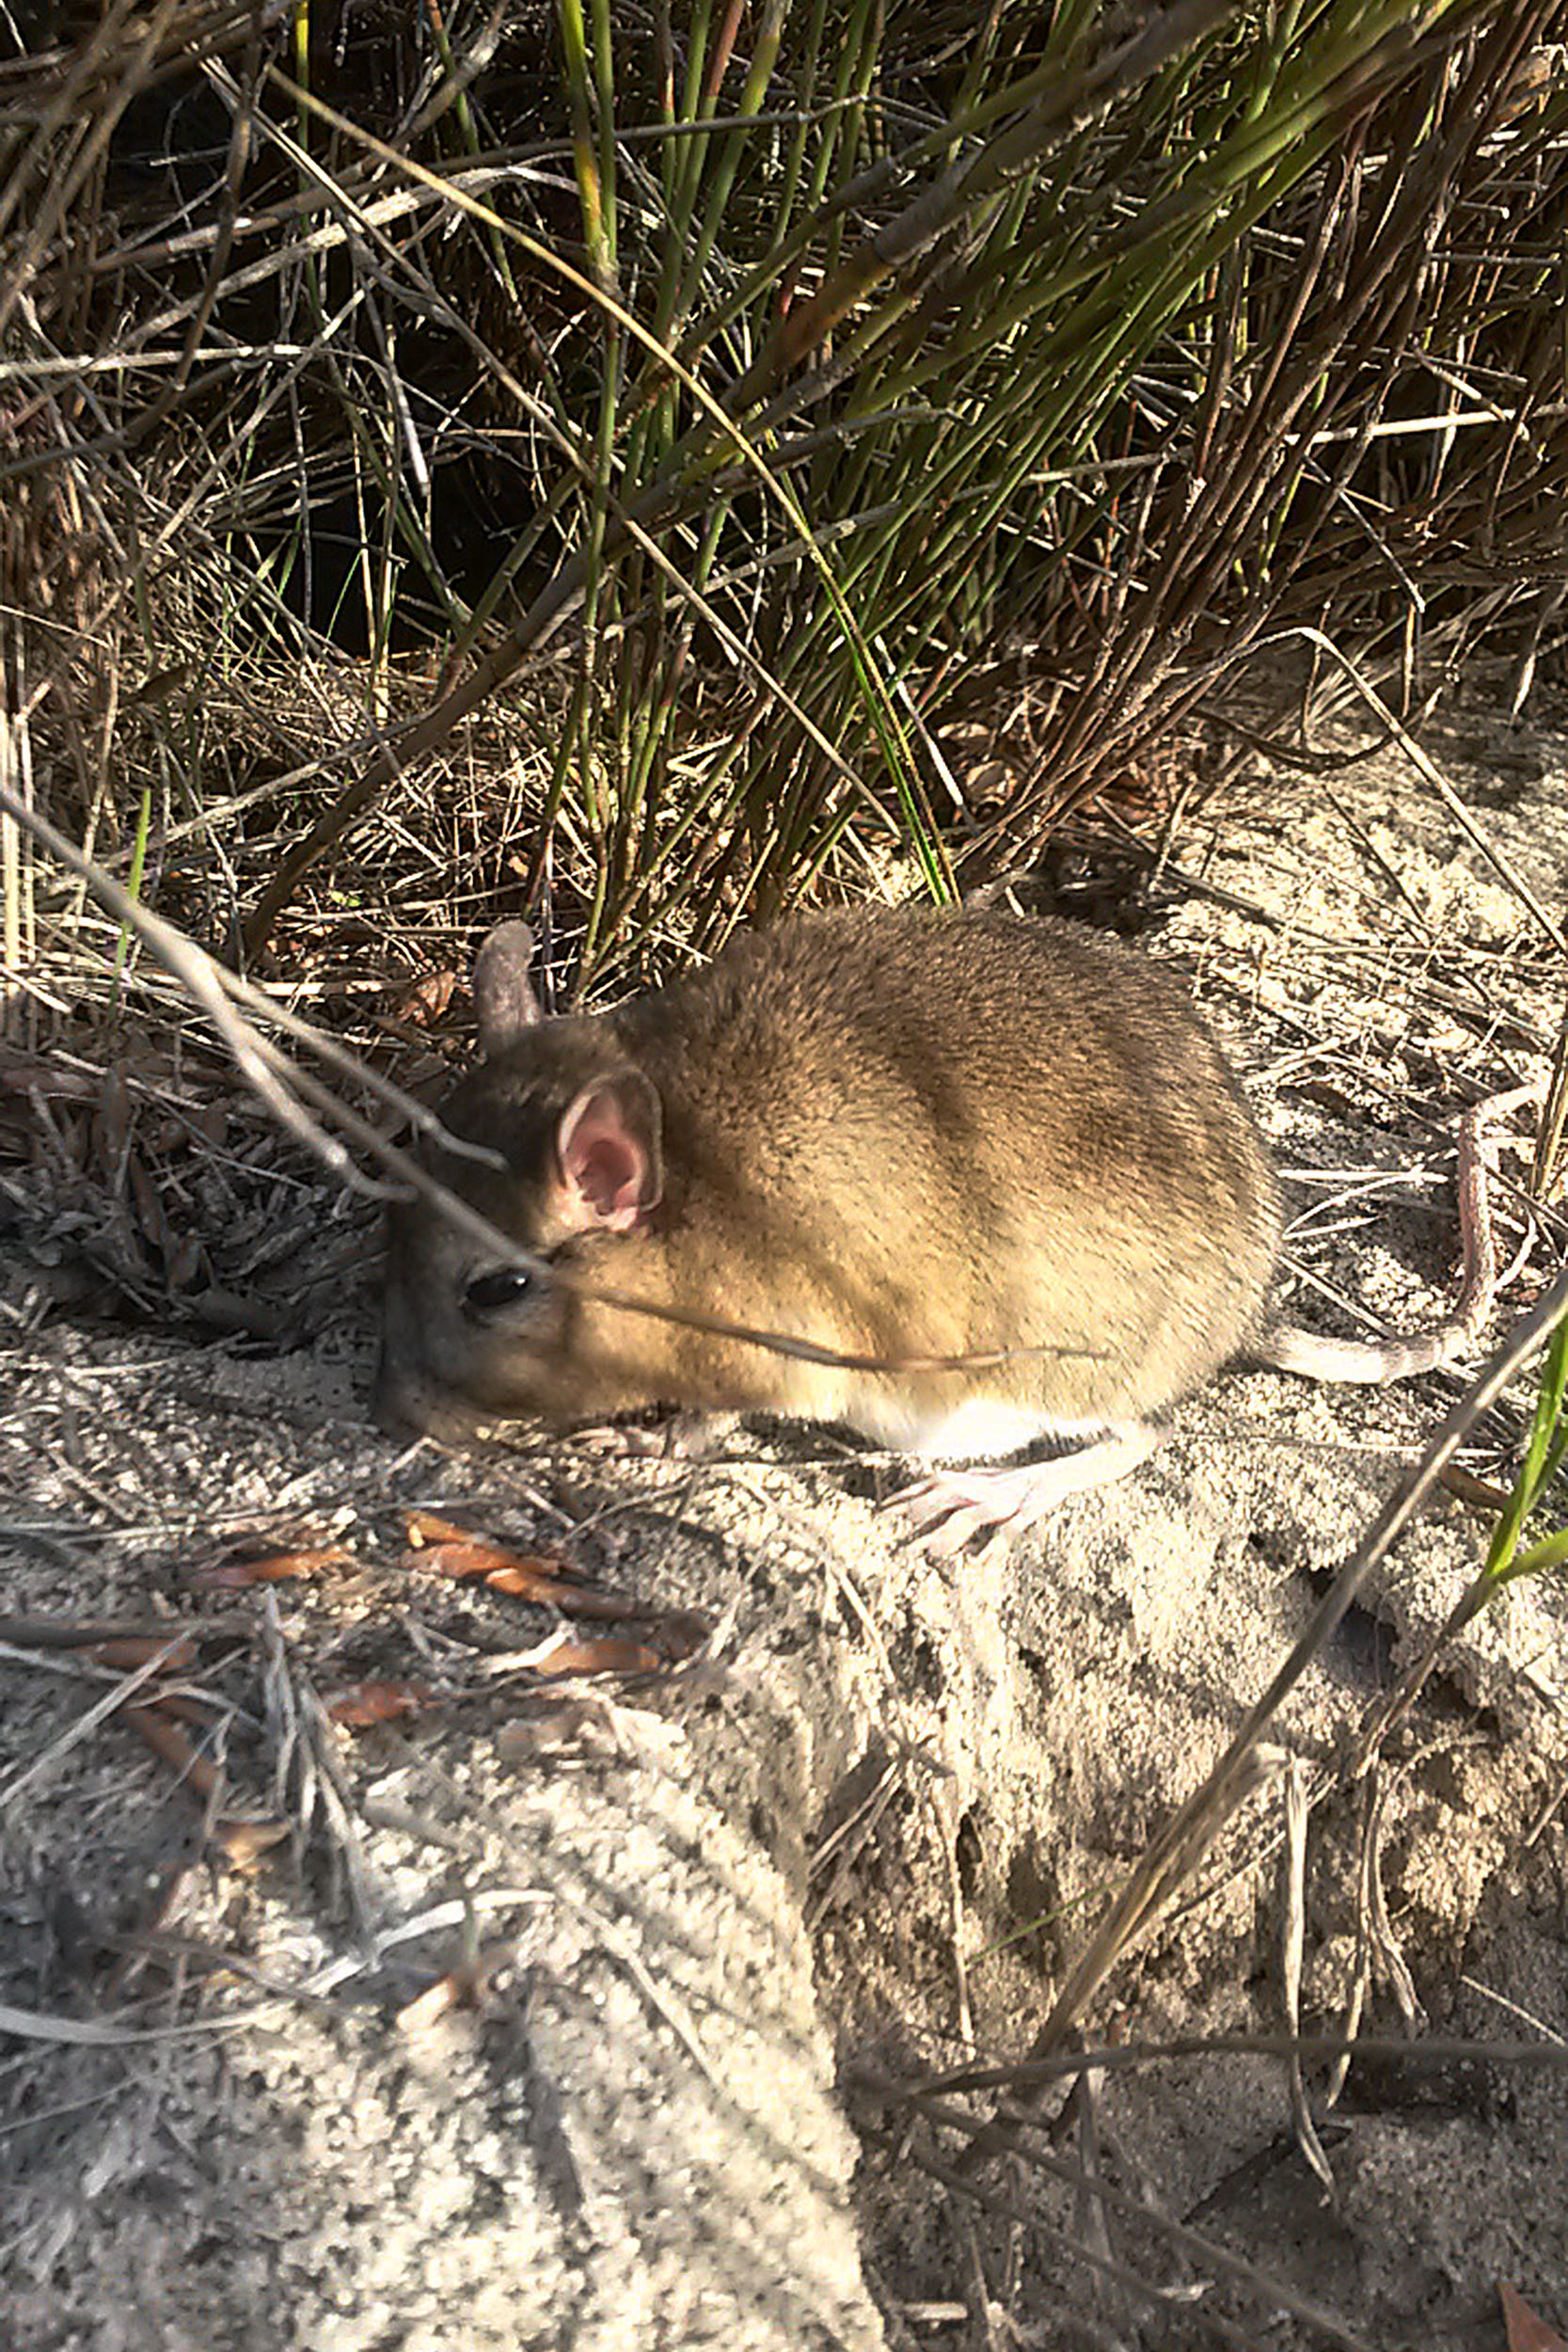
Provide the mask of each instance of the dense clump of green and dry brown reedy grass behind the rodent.
[{"label": "dense clump of green and dry brown reedy grass behind the rodent", "polygon": [[1523,691],[1563,14],[40,7],[16,757],[221,953],[604,967],[1034,858],[1300,623]]}]

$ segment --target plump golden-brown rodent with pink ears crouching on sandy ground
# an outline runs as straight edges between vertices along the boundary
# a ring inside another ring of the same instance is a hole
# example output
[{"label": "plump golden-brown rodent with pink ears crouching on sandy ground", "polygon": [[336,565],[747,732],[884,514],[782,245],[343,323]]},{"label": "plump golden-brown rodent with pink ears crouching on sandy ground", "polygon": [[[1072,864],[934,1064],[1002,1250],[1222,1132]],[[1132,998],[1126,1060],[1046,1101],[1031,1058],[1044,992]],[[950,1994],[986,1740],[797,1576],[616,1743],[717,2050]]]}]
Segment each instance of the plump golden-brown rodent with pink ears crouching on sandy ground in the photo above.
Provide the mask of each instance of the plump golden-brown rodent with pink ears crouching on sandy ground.
[{"label": "plump golden-brown rodent with pink ears crouching on sandy ground", "polygon": [[541,1018],[524,924],[475,964],[482,1063],[444,1185],[595,1289],[853,1357],[628,1315],[531,1277],[409,1200],[388,1228],[388,1425],[574,1423],[632,1406],[842,1421],[936,1461],[1041,1437],[1065,1458],[933,1482],[924,1524],[1037,1517],[1119,1475],[1237,1355],[1328,1378],[1425,1369],[1450,1336],[1269,1329],[1279,1188],[1180,985],[1051,917],[863,908],[736,938],[611,1014]]}]

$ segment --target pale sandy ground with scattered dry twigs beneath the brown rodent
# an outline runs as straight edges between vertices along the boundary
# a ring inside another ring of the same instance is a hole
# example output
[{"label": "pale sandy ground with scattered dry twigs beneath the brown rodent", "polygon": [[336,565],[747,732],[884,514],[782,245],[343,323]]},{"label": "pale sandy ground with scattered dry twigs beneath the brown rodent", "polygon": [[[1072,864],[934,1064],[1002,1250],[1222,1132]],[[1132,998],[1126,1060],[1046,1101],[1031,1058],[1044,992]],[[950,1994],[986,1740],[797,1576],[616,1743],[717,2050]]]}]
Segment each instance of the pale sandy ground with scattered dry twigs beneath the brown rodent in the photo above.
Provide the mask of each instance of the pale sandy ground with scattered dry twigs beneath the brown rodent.
[{"label": "pale sandy ground with scattered dry twigs beneath the brown rodent", "polygon": [[[1561,908],[1568,741],[1465,708],[1427,741]],[[1450,1289],[1458,1112],[1544,1070],[1563,969],[1401,757],[1331,786],[1253,767],[1206,804],[1145,946],[1246,1073],[1293,1258],[1410,1329]],[[877,1508],[896,1465],[830,1432],[696,1463],[400,1451],[364,1423],[369,1268],[306,1345],[195,1348],[45,1312],[47,1214],[26,1183],[12,1211],[2,1609],[195,1628],[181,1675],[214,1705],[188,1724],[221,1780],[197,1802],[129,1729],[122,1665],[5,1630],[7,2347],[1483,2352],[1500,2288],[1568,2331],[1568,2074],[1422,2051],[1568,2037],[1561,1571],[1443,1649],[1373,1769],[1335,1771],[1483,1557],[1453,1494],[1086,2020],[1182,2053],[1056,2096],[980,2204],[945,2178],[961,2136],[889,2091],[1027,2049],[1458,1381],[1227,1376],[1126,1484],[938,1564]],[[1507,1181],[1500,1221],[1509,1256]],[[1537,1232],[1497,1327],[1559,1247]],[[1288,1305],[1354,1329],[1314,1289]],[[1476,1477],[1507,1479],[1526,1411],[1474,1432]],[[520,1653],[559,1611],[433,1576],[409,1510],[630,1595],[630,1628],[567,1623],[649,1656],[541,1689]],[[339,1557],[193,1583],[306,1538]],[[421,1705],[331,1722],[367,1682]],[[1302,2030],[1342,2030],[1363,1983],[1387,2044],[1333,2103],[1307,2074],[1331,2187],[1281,2058],[1197,2046],[1281,2030],[1293,1769]]]}]

